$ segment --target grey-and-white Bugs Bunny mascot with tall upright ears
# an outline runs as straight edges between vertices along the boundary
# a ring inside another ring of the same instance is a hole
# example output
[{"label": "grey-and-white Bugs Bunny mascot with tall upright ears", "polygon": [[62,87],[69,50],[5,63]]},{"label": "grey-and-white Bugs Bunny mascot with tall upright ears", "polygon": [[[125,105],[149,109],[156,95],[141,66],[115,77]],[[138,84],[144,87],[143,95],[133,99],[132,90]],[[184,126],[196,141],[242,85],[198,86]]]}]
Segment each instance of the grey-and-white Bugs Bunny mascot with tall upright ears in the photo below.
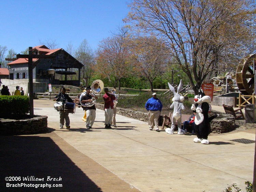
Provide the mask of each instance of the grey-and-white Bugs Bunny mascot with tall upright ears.
[{"label": "grey-and-white Bugs Bunny mascot with tall upright ears", "polygon": [[180,85],[177,89],[177,93],[175,92],[174,87],[171,86],[170,83],[168,83],[170,90],[173,92],[174,97],[172,98],[173,103],[171,104],[170,108],[173,108],[173,115],[172,115],[172,125],[171,128],[166,128],[166,133],[174,134],[174,126],[177,121],[178,124],[178,134],[184,135],[185,131],[181,129],[181,112],[184,110],[184,105],[182,101],[184,100],[184,97],[180,95],[180,91],[182,90],[182,79],[180,82]]}]

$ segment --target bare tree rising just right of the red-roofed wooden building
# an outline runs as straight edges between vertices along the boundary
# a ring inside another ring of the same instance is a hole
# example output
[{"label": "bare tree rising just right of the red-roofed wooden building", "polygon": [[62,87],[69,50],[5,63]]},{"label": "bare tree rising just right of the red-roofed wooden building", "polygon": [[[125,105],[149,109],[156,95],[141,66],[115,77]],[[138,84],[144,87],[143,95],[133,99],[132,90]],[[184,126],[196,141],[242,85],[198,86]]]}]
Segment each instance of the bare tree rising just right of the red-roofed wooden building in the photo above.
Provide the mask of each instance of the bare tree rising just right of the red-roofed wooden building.
[{"label": "bare tree rising just right of the red-roofed wooden building", "polygon": [[88,86],[94,65],[94,55],[86,39],[82,41],[75,51],[75,58],[84,65],[82,68],[82,77],[86,79],[86,86]]}]

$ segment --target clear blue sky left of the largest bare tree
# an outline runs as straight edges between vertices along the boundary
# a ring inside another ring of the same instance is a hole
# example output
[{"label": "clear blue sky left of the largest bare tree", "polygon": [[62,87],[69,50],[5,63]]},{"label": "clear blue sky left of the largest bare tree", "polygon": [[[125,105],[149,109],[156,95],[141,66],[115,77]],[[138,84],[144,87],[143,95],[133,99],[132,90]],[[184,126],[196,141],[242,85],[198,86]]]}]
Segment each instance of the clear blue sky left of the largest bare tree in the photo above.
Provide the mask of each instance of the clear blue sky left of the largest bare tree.
[{"label": "clear blue sky left of the largest bare tree", "polygon": [[[0,0],[0,45],[16,53],[54,40],[77,48],[86,39],[94,50],[129,12],[130,0]],[[6,55],[8,52],[6,53]]]}]

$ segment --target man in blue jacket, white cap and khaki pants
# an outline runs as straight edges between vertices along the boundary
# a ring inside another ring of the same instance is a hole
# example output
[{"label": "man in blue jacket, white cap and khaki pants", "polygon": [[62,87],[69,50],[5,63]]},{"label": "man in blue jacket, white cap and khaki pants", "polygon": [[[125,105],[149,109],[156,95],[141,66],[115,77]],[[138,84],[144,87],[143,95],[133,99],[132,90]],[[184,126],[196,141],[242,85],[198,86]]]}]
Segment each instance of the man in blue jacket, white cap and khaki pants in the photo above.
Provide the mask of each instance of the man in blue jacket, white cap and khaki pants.
[{"label": "man in blue jacket, white cap and khaki pants", "polygon": [[163,105],[161,101],[158,98],[156,98],[156,93],[153,93],[152,98],[148,99],[145,104],[145,108],[148,111],[148,125],[150,125],[151,131],[153,130],[155,123],[156,131],[159,132],[158,118],[160,116],[162,107]]}]

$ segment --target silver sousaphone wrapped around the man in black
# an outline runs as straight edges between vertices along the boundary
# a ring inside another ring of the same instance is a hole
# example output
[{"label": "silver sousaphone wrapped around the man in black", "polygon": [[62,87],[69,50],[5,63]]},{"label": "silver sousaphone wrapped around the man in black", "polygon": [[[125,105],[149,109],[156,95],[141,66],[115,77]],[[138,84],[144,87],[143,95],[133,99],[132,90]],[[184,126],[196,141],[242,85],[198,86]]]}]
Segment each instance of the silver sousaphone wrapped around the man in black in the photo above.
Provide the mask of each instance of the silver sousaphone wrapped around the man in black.
[{"label": "silver sousaphone wrapped around the man in black", "polygon": [[82,97],[84,96],[84,94],[86,94],[86,91],[85,92],[83,92],[81,95],[80,95],[80,104],[83,106],[83,107],[91,107],[91,106],[93,106],[95,103],[96,103],[96,99],[95,99],[95,94],[99,94],[101,91],[102,91],[102,89],[103,89],[103,87],[104,87],[104,84],[103,84],[103,82],[102,82],[102,80],[99,80],[99,79],[97,79],[97,80],[95,80],[92,84],[91,84],[91,92],[90,92],[90,95],[92,96],[92,98],[91,98],[91,102],[87,102],[87,103],[82,103],[81,101],[81,99],[82,99]]}]

